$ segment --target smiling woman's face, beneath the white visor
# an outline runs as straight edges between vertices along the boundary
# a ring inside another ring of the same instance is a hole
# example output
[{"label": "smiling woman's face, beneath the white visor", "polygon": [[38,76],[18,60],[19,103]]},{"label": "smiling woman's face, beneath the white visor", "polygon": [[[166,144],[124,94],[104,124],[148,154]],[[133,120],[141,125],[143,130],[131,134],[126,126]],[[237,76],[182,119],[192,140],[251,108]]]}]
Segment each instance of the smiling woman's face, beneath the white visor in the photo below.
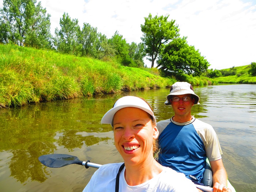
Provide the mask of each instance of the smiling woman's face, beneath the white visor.
[{"label": "smiling woman's face, beneath the white visor", "polygon": [[147,112],[133,107],[120,109],[114,115],[113,129],[115,146],[126,166],[154,158],[153,139],[157,139],[159,132]]}]

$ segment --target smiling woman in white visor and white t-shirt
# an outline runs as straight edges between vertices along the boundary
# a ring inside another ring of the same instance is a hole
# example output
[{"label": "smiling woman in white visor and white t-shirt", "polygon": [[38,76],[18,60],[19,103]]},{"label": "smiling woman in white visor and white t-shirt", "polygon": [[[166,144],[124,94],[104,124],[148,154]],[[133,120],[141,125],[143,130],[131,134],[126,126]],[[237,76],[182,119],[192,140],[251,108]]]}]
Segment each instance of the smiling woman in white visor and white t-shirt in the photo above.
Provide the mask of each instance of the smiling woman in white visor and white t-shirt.
[{"label": "smiling woman in white visor and white t-shirt", "polygon": [[101,123],[112,125],[114,143],[124,163],[101,166],[83,192],[198,191],[183,173],[155,161],[153,146],[158,129],[153,110],[146,101],[122,97],[103,116]]}]

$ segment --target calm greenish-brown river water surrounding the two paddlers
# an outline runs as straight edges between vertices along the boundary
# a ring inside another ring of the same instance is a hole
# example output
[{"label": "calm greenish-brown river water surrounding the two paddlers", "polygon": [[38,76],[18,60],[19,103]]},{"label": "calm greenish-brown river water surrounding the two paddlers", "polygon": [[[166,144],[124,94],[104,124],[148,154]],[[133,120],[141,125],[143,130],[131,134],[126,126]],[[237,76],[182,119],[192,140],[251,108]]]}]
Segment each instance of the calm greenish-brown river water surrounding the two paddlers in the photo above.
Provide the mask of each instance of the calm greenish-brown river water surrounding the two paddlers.
[{"label": "calm greenish-brown river water surrounding the two paddlers", "polygon": [[[200,105],[192,114],[209,123],[221,143],[223,163],[237,192],[256,192],[256,85],[194,87]],[[0,191],[81,192],[95,168],[45,167],[44,154],[70,154],[105,164],[122,162],[102,116],[124,95],[146,99],[158,121],[170,118],[169,89],[144,90],[0,109]]]}]

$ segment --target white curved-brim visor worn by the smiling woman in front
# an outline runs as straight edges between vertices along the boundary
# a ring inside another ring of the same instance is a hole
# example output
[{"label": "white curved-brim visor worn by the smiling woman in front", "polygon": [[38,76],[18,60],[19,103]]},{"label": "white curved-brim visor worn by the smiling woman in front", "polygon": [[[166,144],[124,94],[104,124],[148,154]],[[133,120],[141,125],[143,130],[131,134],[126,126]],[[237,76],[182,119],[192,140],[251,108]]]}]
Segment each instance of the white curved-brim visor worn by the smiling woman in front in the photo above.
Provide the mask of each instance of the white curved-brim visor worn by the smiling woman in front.
[{"label": "white curved-brim visor worn by the smiling woman in front", "polygon": [[101,119],[101,123],[111,124],[111,126],[113,127],[114,114],[116,114],[118,110],[126,107],[135,107],[135,108],[142,109],[146,111],[148,114],[150,114],[154,118],[154,121],[157,122],[155,120],[153,111],[150,109],[150,106],[148,106],[148,104],[145,101],[143,101],[139,97],[125,96],[118,99],[114,104],[113,108],[110,109],[108,112],[106,112],[106,114]]}]

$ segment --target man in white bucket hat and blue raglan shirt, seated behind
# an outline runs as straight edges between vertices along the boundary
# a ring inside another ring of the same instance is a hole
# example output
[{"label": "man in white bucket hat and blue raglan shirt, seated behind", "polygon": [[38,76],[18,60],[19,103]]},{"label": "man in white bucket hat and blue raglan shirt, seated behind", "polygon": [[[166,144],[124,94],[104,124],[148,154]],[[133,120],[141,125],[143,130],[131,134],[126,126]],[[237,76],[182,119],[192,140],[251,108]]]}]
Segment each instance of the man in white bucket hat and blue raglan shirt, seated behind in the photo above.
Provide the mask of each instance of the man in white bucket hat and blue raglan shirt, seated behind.
[{"label": "man in white bucket hat and blue raglan shirt, seated behind", "polygon": [[211,125],[191,116],[191,108],[199,104],[199,99],[191,84],[176,82],[172,85],[165,105],[172,105],[174,116],[157,123],[161,148],[158,162],[201,183],[208,158],[214,191],[226,191],[227,174],[217,134]]}]

